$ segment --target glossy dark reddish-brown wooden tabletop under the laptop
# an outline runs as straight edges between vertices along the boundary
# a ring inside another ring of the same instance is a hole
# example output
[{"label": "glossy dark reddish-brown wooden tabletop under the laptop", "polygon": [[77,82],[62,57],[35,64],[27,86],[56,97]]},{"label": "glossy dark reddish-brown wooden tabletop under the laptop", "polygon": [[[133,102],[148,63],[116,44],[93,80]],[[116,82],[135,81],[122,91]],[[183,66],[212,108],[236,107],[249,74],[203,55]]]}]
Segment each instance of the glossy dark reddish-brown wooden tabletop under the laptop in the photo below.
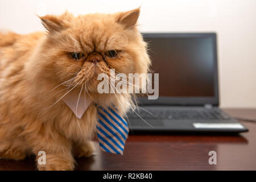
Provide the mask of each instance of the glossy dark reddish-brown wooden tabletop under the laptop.
[{"label": "glossy dark reddish-brown wooden tabletop under the laptop", "polygon": [[[256,109],[224,109],[233,117],[256,119]],[[121,155],[102,152],[77,159],[76,170],[256,170],[256,123],[241,121],[240,135],[130,135]],[[210,165],[209,151],[217,164]],[[0,159],[0,170],[35,170],[33,156]]]}]

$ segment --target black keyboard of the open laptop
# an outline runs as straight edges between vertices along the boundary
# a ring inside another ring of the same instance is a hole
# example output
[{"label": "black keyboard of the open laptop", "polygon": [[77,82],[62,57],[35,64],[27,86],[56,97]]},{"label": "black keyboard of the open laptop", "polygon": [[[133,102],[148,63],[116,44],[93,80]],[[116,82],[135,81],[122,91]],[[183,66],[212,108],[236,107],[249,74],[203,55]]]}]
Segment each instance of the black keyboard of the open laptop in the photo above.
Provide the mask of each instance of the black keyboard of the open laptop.
[{"label": "black keyboard of the open laptop", "polygon": [[[147,110],[147,111],[146,111]],[[135,110],[143,119],[167,120],[226,120],[230,117],[218,109],[139,109]],[[135,112],[127,114],[128,118],[141,119]]]}]

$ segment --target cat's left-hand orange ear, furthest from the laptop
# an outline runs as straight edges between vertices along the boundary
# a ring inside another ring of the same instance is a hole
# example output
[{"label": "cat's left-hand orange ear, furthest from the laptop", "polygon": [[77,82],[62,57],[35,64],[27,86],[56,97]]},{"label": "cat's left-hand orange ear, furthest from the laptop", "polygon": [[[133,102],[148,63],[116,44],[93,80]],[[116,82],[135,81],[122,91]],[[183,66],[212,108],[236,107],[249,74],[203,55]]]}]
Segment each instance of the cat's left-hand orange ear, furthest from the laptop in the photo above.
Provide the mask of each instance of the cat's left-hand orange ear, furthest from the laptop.
[{"label": "cat's left-hand orange ear, furthest from the laptop", "polygon": [[43,26],[51,32],[52,34],[56,34],[68,27],[68,23],[73,18],[73,15],[68,13],[67,11],[60,15],[46,15],[46,16],[39,16],[42,21]]}]

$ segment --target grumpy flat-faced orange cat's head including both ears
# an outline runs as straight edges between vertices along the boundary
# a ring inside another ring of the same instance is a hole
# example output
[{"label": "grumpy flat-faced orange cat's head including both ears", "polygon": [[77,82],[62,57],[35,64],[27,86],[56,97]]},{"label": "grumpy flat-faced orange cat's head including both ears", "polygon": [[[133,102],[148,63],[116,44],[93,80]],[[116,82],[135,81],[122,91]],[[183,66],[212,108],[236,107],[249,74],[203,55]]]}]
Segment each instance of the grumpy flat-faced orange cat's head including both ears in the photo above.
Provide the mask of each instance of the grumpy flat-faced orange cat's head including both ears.
[{"label": "grumpy flat-faced orange cat's head including both ears", "polygon": [[[40,17],[49,31],[42,46],[42,70],[56,83],[86,85],[97,92],[97,76],[146,73],[146,44],[135,24],[139,9],[115,14]],[[42,73],[41,73],[42,74]],[[73,86],[72,85],[72,86]]]}]

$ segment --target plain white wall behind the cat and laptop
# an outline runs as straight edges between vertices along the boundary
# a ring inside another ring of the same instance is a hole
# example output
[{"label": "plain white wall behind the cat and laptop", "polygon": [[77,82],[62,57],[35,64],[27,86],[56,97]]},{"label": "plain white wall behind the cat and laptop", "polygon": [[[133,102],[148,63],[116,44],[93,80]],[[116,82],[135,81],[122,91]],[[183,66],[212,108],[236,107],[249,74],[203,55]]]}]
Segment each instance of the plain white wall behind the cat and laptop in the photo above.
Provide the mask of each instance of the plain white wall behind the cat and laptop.
[{"label": "plain white wall behind the cat and laptop", "polygon": [[256,107],[255,0],[0,0],[0,29],[41,31],[36,14],[114,13],[141,6],[143,32],[217,32],[222,107]]}]

